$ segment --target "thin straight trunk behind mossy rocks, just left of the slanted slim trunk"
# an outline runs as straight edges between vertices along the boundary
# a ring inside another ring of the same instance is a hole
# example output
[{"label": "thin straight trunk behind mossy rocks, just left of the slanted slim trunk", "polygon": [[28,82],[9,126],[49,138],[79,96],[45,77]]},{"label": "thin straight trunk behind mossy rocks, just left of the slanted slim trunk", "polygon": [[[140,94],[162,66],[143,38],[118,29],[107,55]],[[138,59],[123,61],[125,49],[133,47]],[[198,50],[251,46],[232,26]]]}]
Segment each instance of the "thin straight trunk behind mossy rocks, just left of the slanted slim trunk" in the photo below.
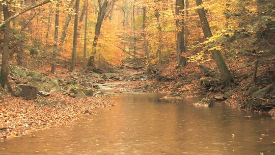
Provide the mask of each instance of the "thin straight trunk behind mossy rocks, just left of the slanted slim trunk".
[{"label": "thin straight trunk behind mossy rocks, just left of the slanted slim trunk", "polygon": [[54,44],[53,44],[53,52],[51,57],[51,73],[56,72],[56,59],[58,53],[58,30],[59,30],[59,1],[56,6],[56,22],[54,27]]}]

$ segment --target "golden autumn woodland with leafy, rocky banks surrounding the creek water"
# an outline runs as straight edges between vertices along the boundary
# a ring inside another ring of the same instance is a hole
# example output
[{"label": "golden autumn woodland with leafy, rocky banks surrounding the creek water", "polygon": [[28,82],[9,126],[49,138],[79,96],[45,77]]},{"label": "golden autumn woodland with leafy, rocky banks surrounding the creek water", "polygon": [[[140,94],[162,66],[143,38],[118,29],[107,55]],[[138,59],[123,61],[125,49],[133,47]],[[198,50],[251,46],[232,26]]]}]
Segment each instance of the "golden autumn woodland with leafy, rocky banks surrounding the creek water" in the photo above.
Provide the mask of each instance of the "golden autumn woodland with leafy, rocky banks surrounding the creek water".
[{"label": "golden autumn woodland with leafy, rocky banks surrounding the creek water", "polygon": [[0,140],[112,110],[126,92],[209,109],[222,102],[274,124],[274,4],[0,0]]}]

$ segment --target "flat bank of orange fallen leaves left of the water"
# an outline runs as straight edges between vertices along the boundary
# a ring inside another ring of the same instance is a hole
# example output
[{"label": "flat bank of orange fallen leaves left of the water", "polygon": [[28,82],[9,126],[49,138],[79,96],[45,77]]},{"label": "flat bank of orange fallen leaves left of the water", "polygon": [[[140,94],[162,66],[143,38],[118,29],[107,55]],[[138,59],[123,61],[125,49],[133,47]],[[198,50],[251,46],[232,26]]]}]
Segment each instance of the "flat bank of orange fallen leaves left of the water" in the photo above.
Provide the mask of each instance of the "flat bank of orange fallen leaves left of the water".
[{"label": "flat bank of orange fallen leaves left of the water", "polygon": [[35,100],[6,96],[0,102],[0,139],[12,138],[45,128],[75,122],[85,111],[112,107],[114,101],[106,97],[72,98],[63,94],[46,97],[54,105],[39,106]]}]

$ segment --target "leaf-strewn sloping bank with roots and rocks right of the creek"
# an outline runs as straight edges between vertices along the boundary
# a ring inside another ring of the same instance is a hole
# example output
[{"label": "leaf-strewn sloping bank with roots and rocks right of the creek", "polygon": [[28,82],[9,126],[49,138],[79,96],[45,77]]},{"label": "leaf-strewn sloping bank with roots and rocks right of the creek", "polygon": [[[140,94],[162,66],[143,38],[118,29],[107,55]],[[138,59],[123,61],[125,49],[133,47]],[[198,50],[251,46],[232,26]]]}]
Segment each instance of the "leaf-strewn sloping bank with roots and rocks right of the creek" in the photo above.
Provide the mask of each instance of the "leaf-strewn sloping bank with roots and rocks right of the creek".
[{"label": "leaf-strewn sloping bank with roots and rocks right of the creek", "polygon": [[[150,80],[140,80],[145,71],[129,75],[132,77],[130,79],[136,80],[112,87],[167,93],[167,99],[205,96],[209,101],[222,100],[233,108],[269,113],[275,117],[275,75],[272,64],[259,67],[255,86],[253,66],[246,62],[246,60],[231,62],[235,64],[230,66],[235,82],[227,88],[224,88],[218,69],[212,61],[204,63],[203,66],[191,63],[183,68],[178,68],[176,64],[167,64],[157,70],[154,76],[148,73]],[[204,103],[202,105],[205,106]]]}]

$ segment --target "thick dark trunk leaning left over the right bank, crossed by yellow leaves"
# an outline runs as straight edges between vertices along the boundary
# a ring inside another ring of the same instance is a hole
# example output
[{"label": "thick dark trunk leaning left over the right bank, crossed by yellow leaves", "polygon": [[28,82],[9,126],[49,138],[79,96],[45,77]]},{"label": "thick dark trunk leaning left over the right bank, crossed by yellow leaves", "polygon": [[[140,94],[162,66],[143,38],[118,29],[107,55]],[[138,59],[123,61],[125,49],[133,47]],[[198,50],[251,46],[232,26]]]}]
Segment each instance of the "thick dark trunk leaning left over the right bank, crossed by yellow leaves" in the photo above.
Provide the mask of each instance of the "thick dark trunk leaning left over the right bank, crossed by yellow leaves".
[{"label": "thick dark trunk leaning left over the right bank, crossed by yellow leaves", "polygon": [[[197,3],[197,6],[200,6],[203,4],[202,0],[196,0],[196,3]],[[198,14],[202,23],[204,37],[206,39],[212,37],[212,32],[209,27],[209,23],[208,23],[204,8],[198,9]],[[224,80],[224,86],[227,87],[230,83],[234,82],[234,78],[228,70],[228,67],[221,54],[221,51],[214,49],[214,50],[211,50],[211,53],[212,53],[213,59],[217,64],[219,72],[221,72],[221,76]]]}]

